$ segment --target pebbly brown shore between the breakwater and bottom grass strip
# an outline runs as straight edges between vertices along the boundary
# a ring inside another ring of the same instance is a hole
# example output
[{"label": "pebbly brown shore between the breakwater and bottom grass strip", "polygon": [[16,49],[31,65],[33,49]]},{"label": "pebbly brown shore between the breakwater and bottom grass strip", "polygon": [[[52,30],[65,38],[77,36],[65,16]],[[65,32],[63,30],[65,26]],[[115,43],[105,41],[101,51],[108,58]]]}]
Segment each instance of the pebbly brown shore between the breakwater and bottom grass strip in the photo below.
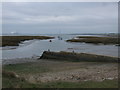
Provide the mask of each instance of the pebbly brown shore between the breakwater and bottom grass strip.
[{"label": "pebbly brown shore between the breakwater and bottom grass strip", "polygon": [[[102,82],[106,80],[113,80],[116,81],[116,83],[118,80],[117,63],[61,62],[48,59],[30,61],[4,64],[3,81],[6,80],[6,78],[9,78],[9,81],[22,79],[24,80],[22,82],[39,85],[52,82],[80,83],[89,81],[94,81],[96,84],[101,82],[102,84]],[[15,82],[16,81],[14,81],[14,85],[18,83]],[[21,84],[19,83],[17,86],[21,86]],[[6,87],[4,82],[3,87]]]}]

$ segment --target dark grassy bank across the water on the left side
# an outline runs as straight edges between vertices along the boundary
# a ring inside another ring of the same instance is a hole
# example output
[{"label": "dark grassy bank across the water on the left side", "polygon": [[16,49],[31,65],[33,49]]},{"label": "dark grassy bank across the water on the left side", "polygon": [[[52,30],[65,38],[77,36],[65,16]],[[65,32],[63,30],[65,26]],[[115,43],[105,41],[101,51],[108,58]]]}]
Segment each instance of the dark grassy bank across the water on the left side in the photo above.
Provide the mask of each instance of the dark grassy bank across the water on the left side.
[{"label": "dark grassy bank across the water on the left side", "polygon": [[18,46],[20,42],[25,40],[32,39],[52,39],[54,37],[49,36],[0,36],[2,42],[0,42],[0,46]]}]

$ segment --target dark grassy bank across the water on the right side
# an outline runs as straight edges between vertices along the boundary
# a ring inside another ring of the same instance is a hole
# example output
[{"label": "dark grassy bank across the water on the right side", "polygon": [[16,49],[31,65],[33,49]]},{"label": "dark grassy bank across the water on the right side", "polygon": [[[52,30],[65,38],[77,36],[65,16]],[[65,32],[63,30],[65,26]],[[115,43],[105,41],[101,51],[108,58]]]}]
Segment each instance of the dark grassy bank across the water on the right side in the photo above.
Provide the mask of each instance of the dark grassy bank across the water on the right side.
[{"label": "dark grassy bank across the water on the right side", "polygon": [[119,44],[117,37],[95,37],[95,36],[78,36],[78,39],[70,39],[67,42],[85,42],[92,44]]}]

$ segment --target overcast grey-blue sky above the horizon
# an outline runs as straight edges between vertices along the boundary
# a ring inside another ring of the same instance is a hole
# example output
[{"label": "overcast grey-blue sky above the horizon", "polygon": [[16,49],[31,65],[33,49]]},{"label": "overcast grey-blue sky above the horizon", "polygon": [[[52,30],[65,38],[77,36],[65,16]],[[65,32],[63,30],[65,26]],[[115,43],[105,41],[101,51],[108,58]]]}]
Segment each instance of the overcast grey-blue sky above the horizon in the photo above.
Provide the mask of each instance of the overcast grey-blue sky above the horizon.
[{"label": "overcast grey-blue sky above the horizon", "polygon": [[118,31],[117,2],[4,2],[3,33]]}]

